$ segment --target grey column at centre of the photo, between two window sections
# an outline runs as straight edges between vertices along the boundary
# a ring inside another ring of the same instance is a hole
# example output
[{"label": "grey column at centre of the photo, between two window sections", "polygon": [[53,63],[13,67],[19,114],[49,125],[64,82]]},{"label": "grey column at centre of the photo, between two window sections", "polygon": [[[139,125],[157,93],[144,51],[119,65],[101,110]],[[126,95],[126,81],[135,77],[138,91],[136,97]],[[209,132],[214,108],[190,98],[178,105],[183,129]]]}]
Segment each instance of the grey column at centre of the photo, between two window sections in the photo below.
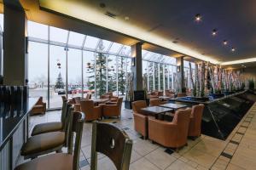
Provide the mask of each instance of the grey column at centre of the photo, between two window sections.
[{"label": "grey column at centre of the photo, between two window sections", "polygon": [[131,46],[131,74],[133,75],[134,90],[143,90],[143,57],[142,42]]}]

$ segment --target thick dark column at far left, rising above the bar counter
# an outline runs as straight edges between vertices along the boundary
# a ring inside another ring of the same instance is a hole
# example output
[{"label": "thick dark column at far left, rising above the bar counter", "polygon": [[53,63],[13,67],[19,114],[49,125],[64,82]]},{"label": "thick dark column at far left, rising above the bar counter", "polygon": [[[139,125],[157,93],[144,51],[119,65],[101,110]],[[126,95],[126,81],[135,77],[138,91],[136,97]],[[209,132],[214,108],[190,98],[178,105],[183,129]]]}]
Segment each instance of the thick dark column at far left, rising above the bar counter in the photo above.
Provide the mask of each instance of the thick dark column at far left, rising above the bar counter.
[{"label": "thick dark column at far left, rising above the bar counter", "polygon": [[3,83],[23,86],[27,79],[26,14],[15,2],[4,3]]}]

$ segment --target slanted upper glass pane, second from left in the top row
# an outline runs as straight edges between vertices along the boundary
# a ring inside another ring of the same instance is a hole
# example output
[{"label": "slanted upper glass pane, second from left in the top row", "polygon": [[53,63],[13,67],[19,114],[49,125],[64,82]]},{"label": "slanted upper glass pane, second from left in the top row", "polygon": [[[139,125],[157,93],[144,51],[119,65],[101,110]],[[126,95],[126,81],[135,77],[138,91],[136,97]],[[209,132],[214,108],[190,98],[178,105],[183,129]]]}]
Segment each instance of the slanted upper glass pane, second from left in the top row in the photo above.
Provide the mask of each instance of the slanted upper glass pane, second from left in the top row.
[{"label": "slanted upper glass pane, second from left in the top row", "polygon": [[50,26],[49,40],[54,42],[67,43],[67,30]]}]

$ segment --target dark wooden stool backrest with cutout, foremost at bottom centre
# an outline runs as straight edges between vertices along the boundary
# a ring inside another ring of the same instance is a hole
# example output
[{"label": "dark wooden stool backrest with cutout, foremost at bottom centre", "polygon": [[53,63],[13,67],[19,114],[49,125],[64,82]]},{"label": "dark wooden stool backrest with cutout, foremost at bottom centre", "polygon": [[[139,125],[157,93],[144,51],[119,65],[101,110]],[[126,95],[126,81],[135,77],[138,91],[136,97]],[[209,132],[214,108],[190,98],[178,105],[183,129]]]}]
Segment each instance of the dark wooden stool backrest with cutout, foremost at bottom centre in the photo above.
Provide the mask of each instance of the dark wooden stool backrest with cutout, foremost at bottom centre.
[{"label": "dark wooden stool backrest with cutout, foremost at bottom centre", "polygon": [[97,169],[97,152],[108,156],[117,170],[128,170],[132,140],[125,131],[108,123],[93,122],[90,169]]}]

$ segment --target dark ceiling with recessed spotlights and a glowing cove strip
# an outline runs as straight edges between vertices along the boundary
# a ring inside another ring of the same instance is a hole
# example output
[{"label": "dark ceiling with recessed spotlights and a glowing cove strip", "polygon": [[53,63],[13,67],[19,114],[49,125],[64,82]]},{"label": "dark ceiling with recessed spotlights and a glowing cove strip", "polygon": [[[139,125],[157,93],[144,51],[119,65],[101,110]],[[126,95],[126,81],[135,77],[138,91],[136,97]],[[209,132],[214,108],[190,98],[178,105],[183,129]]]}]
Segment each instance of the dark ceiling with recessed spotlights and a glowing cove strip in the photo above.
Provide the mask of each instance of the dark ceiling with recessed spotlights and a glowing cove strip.
[{"label": "dark ceiling with recessed spotlights and a glowing cove strip", "polygon": [[[73,4],[73,7],[76,8],[65,8],[64,2],[61,0],[39,2],[44,10],[39,10],[38,1],[20,0],[22,6],[27,9],[26,13],[29,19],[49,23],[49,19],[45,18],[47,18],[47,14],[50,15],[48,13],[50,11],[50,13],[62,14],[61,17],[63,15],[71,17],[79,15],[76,18],[88,21],[84,14],[89,15],[90,10],[93,10],[102,14],[102,20],[114,20],[125,23],[124,26],[136,26],[137,29],[144,31],[145,35],[154,35],[157,38],[165,39],[166,41],[163,42],[168,42],[168,44],[158,43],[160,41],[155,41],[155,43],[153,39],[152,42],[145,43],[143,47],[160,54],[180,56],[181,54],[188,54],[186,52],[189,50],[193,52],[191,54],[195,54],[190,55],[192,57],[204,59],[205,56],[205,59],[209,57],[220,62],[254,58],[256,55],[256,17],[254,16],[256,1],[253,0],[247,0],[247,3],[241,0],[64,1],[67,4]],[[49,5],[52,2],[57,5]],[[100,3],[104,3],[105,8],[100,7]],[[106,19],[106,12],[115,14],[115,19],[109,19],[109,17]],[[42,14],[44,14],[43,18]],[[195,22],[195,14],[201,14],[201,22]],[[50,16],[53,18],[60,17],[53,14]],[[129,20],[125,20],[125,17],[129,17]],[[55,20],[52,20],[51,24],[65,25],[61,21],[56,23]],[[97,23],[93,23],[93,25],[87,23],[85,31],[96,34],[91,36],[102,37],[111,41],[115,39],[116,42],[122,42],[126,45],[143,39],[141,35],[132,35],[129,32],[118,34],[117,30],[110,31],[111,26],[108,27],[108,23],[103,26],[107,28],[105,30],[96,25]],[[81,32],[84,31],[84,28],[79,30],[77,27],[76,29]],[[212,37],[211,32],[214,28],[218,29],[218,34]],[[229,42],[227,46],[222,44],[224,39]],[[236,48],[236,52],[230,51],[232,47]]]}]

